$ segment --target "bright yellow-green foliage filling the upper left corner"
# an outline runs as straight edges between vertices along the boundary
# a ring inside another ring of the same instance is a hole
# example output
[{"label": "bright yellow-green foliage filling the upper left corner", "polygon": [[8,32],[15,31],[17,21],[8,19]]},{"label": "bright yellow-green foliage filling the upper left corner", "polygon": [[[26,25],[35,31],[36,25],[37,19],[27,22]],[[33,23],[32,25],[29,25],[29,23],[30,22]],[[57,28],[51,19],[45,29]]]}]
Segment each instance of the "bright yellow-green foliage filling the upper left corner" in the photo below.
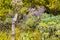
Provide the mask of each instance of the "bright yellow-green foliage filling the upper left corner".
[{"label": "bright yellow-green foliage filling the upper left corner", "polygon": [[6,15],[9,13],[11,8],[11,0],[0,0],[0,19],[5,20]]}]

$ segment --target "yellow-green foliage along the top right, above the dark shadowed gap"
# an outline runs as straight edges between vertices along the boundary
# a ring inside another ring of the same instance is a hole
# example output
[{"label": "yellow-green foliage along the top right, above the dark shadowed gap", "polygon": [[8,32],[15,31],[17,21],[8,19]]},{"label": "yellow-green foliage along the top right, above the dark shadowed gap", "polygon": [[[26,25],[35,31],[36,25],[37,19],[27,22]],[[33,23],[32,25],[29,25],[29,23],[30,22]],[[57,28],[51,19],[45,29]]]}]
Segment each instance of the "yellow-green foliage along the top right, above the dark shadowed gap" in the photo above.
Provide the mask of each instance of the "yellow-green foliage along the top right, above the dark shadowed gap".
[{"label": "yellow-green foliage along the top right, above the dark shadowed gap", "polygon": [[52,14],[59,14],[60,1],[59,0],[23,0],[23,5],[26,7],[34,6],[40,7],[41,5],[47,7],[47,12]]}]

